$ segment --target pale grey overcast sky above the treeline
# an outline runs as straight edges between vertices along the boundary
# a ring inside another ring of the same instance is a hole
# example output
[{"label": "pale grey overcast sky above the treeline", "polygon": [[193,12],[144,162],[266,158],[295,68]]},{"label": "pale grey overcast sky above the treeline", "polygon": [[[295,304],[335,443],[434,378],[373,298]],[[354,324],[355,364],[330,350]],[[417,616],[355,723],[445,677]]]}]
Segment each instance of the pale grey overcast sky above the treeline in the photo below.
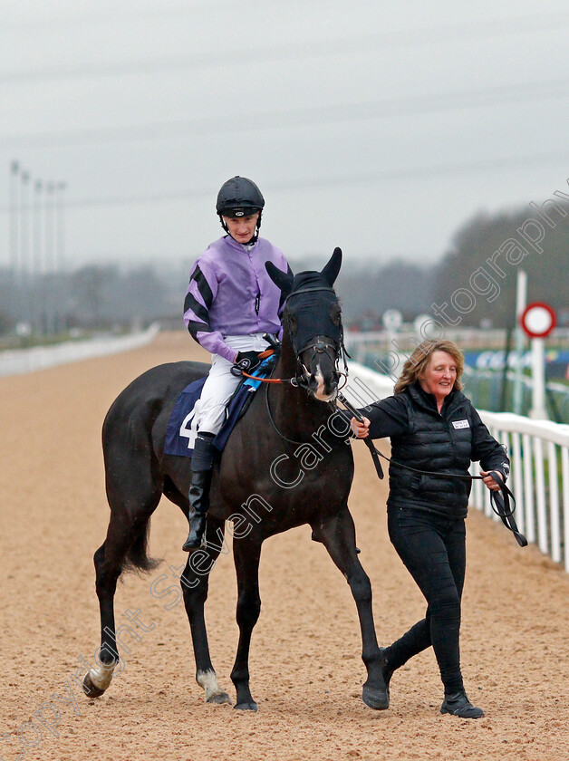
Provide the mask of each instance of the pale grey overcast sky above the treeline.
[{"label": "pale grey overcast sky above the treeline", "polygon": [[566,2],[0,2],[9,165],[64,180],[68,264],[191,262],[217,189],[263,190],[294,261],[433,262],[569,177]]}]

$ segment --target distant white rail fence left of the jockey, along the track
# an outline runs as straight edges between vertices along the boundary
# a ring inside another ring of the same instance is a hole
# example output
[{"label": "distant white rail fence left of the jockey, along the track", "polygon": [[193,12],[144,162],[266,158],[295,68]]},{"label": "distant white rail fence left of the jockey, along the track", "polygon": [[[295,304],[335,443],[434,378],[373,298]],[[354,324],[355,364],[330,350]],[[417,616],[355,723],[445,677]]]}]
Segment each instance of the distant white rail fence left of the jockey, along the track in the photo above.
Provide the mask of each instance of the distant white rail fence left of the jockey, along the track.
[{"label": "distant white rail fence left of the jockey, along the track", "polygon": [[65,341],[53,346],[34,346],[32,349],[0,352],[0,376],[19,375],[66,362],[128,352],[130,349],[138,349],[153,341],[158,332],[159,325],[155,323],[146,331],[128,335],[101,336],[89,341]]}]

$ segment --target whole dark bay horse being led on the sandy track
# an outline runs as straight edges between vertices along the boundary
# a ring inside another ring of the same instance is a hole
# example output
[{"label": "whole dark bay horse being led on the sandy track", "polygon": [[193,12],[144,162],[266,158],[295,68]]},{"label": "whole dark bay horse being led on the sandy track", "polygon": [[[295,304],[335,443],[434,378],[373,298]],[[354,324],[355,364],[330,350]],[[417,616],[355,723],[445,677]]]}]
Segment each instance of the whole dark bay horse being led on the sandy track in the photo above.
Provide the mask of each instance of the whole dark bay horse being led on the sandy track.
[{"label": "whole dark bay horse being led on the sandy track", "polygon": [[[216,464],[207,514],[207,545],[188,556],[180,578],[196,659],[196,679],[208,702],[231,702],[217,684],[207,644],[204,604],[208,572],[222,549],[224,532],[233,535],[239,641],[231,679],[235,708],[256,710],[249,689],[248,655],[261,600],[258,567],[268,536],[308,524],[352,590],[362,629],[362,659],[367,668],[362,699],[387,708],[371,612],[371,583],[358,559],[348,494],[353,459],[346,420],[335,408],[342,358],[341,309],[333,291],[342,252],[335,249],[322,272],[284,274],[267,271],[286,302],[284,335],[274,376],[294,379],[263,384],[227,442]],[[83,682],[96,698],[111,684],[119,655],[113,598],[121,572],[155,567],[147,554],[149,518],[162,494],[188,515],[188,458],[164,455],[170,412],[189,382],[204,377],[197,362],[160,365],[123,390],[103,424],[106,489],[111,506],[107,537],[94,555],[101,607],[101,651],[96,668]],[[308,580],[307,580],[308,581]]]}]

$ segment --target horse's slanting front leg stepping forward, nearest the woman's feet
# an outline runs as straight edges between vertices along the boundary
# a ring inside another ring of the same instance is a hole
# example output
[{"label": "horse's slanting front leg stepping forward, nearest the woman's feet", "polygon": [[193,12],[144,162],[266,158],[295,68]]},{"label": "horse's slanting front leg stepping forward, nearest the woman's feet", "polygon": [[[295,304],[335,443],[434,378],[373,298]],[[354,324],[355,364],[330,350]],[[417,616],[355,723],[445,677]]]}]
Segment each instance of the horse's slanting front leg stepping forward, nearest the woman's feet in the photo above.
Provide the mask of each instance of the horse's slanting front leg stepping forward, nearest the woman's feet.
[{"label": "horse's slanting front leg stepping forward, nearest the woman's feet", "polygon": [[333,562],[350,584],[358,609],[362,630],[362,660],[368,672],[363,685],[362,700],[370,708],[389,708],[390,698],[383,679],[383,657],[378,646],[371,610],[371,583],[358,559],[355,528],[346,506],[342,513],[312,526],[314,535],[324,544]]}]

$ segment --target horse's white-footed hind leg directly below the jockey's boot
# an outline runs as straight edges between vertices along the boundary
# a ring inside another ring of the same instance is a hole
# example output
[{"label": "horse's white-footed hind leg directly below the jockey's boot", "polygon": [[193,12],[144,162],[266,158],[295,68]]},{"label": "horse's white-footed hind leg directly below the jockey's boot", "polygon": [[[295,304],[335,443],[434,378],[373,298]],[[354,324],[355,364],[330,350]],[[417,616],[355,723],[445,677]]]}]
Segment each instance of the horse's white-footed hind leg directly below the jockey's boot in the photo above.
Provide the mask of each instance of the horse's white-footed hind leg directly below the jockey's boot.
[{"label": "horse's white-footed hind leg directly below the jockey's boot", "polygon": [[206,690],[207,703],[229,703],[231,705],[231,698],[217,684],[216,672],[209,656],[206,621],[204,619],[209,573],[216,563],[217,556],[224,548],[224,523],[211,515],[207,516],[206,541],[206,547],[194,550],[188,555],[180,583],[184,593],[184,604],[188,613],[194,646],[196,681]]}]

